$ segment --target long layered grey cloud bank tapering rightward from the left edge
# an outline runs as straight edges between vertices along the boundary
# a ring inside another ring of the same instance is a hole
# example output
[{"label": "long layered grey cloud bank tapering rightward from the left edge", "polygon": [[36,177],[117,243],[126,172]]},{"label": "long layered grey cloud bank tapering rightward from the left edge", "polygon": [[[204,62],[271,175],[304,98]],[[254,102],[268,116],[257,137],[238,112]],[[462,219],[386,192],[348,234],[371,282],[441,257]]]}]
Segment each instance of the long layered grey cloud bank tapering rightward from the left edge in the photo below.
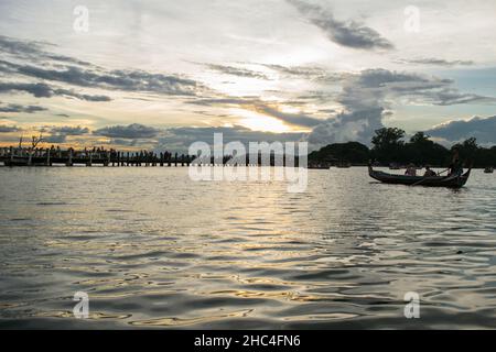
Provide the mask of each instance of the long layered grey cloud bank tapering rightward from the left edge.
[{"label": "long layered grey cloud bank tapering rightward from the left edge", "polygon": [[[7,74],[11,80],[19,77],[19,81],[0,81],[0,94],[24,91],[36,98],[62,96],[104,102],[111,99],[107,95],[77,91],[76,87],[182,97],[194,97],[209,91],[204,85],[180,75],[139,69],[106,69],[76,58],[48,53],[44,50],[47,45],[0,36],[0,52],[8,54],[0,59],[0,72]],[[26,79],[31,81],[26,82]],[[54,87],[52,82],[69,87]]]}]

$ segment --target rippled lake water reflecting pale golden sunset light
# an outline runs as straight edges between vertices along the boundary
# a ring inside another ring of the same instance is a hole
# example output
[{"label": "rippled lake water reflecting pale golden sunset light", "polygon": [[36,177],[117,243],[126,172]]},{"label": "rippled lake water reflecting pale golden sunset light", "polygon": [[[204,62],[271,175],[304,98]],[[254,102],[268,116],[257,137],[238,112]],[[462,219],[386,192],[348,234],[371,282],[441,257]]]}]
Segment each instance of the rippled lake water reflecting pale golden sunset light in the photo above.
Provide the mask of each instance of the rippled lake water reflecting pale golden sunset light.
[{"label": "rippled lake water reflecting pale golden sunset light", "polygon": [[0,167],[0,328],[496,328],[496,175],[450,190],[334,168],[290,194],[186,167]]}]

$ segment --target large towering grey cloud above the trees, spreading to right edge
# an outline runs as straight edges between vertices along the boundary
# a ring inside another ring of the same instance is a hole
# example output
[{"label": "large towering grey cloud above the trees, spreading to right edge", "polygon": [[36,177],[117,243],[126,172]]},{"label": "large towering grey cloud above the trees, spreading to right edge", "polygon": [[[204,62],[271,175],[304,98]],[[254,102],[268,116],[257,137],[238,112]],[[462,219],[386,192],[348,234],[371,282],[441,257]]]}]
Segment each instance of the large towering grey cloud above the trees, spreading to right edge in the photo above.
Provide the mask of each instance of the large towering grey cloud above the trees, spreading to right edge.
[{"label": "large towering grey cloud above the trees, spreading to right edge", "polygon": [[310,143],[357,141],[369,143],[374,131],[382,127],[386,109],[392,103],[450,106],[488,103],[496,100],[464,94],[453,88],[453,80],[387,69],[366,69],[343,76],[343,89],[334,99],[341,113],[316,125],[308,135]]}]

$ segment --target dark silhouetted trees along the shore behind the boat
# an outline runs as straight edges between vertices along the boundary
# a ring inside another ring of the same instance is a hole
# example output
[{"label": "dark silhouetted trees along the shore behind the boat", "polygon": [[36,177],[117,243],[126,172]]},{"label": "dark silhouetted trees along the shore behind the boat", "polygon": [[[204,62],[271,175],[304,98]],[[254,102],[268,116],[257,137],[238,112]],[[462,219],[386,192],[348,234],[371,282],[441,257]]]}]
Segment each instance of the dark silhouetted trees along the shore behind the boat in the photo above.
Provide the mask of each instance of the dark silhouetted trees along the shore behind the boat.
[{"label": "dark silhouetted trees along the shore behind the boat", "polygon": [[470,138],[451,148],[435,143],[424,132],[417,132],[408,142],[405,131],[397,128],[384,128],[376,131],[371,139],[373,147],[358,142],[334,143],[309,154],[309,163],[347,162],[365,165],[369,161],[381,165],[413,163],[418,166],[446,166],[453,151],[457,150],[462,161],[474,167],[496,165],[496,146],[482,147],[475,138]]}]

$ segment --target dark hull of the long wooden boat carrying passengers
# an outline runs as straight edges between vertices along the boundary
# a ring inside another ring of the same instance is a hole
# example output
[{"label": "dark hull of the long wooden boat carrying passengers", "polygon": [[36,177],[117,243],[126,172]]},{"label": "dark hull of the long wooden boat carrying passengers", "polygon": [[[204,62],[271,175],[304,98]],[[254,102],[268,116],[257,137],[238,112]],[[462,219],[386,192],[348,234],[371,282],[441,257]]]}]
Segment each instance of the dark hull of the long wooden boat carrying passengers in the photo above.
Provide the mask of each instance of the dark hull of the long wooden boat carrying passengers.
[{"label": "dark hull of the long wooden boat carrying passengers", "polygon": [[368,166],[368,175],[385,184],[407,185],[407,186],[425,186],[425,187],[448,187],[448,188],[461,188],[463,187],[468,177],[471,176],[470,168],[463,175],[452,176],[407,176],[407,175],[392,175],[379,170],[375,170],[371,166]]}]

